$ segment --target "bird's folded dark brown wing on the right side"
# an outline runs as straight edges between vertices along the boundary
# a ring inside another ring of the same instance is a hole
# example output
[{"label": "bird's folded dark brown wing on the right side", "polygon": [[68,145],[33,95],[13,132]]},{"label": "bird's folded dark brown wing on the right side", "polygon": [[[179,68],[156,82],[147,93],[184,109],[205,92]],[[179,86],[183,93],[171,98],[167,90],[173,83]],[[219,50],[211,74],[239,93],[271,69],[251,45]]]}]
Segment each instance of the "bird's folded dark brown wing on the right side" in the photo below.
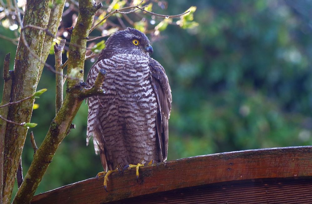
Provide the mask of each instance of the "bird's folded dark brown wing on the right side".
[{"label": "bird's folded dark brown wing on the right side", "polygon": [[159,155],[161,155],[160,160],[165,161],[168,155],[168,120],[172,102],[171,88],[165,70],[160,63],[150,58],[149,68],[152,76],[151,83],[158,104],[156,126],[159,141]]}]

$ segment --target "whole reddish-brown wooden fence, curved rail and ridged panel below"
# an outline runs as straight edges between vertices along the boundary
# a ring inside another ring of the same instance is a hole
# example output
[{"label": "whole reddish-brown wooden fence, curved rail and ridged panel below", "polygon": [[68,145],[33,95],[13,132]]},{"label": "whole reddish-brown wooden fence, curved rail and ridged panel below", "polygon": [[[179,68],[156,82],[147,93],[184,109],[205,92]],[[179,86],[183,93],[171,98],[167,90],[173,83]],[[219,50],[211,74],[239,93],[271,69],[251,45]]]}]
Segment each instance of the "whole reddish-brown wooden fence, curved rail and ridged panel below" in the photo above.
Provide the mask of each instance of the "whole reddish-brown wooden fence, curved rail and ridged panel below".
[{"label": "whole reddish-brown wooden fence, curved rail and ridged panel below", "polygon": [[189,157],[87,179],[36,195],[50,203],[312,203],[312,146]]}]

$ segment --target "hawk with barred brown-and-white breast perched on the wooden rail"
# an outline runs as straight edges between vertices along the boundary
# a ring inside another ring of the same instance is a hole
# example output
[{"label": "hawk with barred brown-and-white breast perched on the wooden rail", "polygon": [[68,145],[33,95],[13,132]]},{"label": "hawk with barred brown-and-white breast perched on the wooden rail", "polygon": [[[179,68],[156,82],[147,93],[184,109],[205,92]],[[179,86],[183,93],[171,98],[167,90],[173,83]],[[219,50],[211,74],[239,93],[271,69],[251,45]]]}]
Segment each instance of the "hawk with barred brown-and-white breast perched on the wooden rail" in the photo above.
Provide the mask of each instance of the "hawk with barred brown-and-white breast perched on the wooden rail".
[{"label": "hawk with barred brown-and-white breast perched on the wooden rail", "polygon": [[[163,66],[150,57],[147,36],[134,28],[112,34],[87,76],[91,87],[106,71],[104,95],[88,101],[87,144],[90,137],[107,176],[116,168],[162,162],[168,152],[171,88]],[[115,169],[115,170],[114,170]],[[107,173],[106,171],[109,170]]]}]

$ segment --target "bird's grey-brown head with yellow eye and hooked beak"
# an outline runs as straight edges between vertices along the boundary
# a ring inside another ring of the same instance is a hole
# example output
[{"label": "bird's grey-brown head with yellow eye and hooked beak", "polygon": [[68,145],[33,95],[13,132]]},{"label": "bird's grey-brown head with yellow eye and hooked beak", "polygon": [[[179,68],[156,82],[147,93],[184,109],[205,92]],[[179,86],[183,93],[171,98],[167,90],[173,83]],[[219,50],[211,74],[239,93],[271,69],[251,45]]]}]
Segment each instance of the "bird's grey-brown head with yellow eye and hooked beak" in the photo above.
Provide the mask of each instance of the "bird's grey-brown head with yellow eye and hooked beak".
[{"label": "bird's grey-brown head with yellow eye and hooked beak", "polygon": [[112,34],[105,42],[105,50],[119,54],[137,54],[149,56],[153,48],[147,36],[134,28],[119,30]]}]

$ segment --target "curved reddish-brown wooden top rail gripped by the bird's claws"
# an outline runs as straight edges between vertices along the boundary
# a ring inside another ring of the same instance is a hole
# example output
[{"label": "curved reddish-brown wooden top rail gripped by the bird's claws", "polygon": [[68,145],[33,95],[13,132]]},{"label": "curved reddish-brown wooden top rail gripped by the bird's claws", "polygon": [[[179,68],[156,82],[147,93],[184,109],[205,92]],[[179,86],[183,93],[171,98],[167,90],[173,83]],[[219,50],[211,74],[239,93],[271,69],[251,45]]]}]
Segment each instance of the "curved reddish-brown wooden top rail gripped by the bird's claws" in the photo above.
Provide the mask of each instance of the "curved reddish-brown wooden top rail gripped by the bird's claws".
[{"label": "curved reddish-brown wooden top rail gripped by the bird's claws", "polygon": [[105,203],[140,195],[226,181],[312,176],[312,146],[225,152],[189,157],[73,183],[33,197],[31,203]]}]

